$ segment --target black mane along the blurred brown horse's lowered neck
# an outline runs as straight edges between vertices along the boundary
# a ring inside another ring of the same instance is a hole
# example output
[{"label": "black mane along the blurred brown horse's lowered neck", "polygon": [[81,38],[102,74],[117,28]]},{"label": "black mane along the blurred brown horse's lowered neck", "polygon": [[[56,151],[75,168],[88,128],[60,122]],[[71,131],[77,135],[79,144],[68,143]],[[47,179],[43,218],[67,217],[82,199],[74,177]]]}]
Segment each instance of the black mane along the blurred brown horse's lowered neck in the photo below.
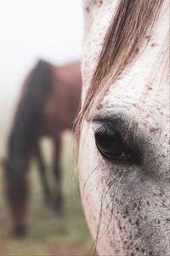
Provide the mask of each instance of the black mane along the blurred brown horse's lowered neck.
[{"label": "black mane along the blurred brown horse's lowered neck", "polygon": [[53,66],[38,61],[23,85],[14,124],[8,139],[8,154],[29,154],[42,121],[42,106],[53,87]]}]

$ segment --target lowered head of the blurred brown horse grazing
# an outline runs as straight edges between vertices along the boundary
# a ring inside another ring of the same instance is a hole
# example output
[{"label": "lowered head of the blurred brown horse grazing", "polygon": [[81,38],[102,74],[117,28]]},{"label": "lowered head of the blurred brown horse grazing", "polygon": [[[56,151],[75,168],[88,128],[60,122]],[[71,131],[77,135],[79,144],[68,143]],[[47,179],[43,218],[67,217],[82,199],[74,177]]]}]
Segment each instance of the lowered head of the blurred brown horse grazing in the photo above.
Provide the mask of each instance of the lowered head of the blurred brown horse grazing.
[{"label": "lowered head of the blurred brown horse grazing", "polygon": [[15,157],[9,157],[3,160],[4,189],[8,200],[8,207],[12,212],[14,219],[14,236],[23,236],[25,234],[26,218],[26,193],[27,181],[26,174],[28,169],[28,160]]}]

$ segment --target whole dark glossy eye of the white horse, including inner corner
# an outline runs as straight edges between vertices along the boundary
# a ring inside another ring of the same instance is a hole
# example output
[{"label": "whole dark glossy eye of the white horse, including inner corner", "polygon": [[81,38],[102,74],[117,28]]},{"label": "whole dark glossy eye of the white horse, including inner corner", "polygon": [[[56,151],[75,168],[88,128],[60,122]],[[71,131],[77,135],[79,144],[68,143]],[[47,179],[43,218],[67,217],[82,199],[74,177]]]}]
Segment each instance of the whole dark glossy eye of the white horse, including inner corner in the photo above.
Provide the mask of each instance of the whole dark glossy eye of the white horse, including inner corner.
[{"label": "whole dark glossy eye of the white horse, including inner corner", "polygon": [[132,161],[132,155],[127,151],[122,137],[116,131],[95,132],[95,143],[99,153],[108,160]]}]

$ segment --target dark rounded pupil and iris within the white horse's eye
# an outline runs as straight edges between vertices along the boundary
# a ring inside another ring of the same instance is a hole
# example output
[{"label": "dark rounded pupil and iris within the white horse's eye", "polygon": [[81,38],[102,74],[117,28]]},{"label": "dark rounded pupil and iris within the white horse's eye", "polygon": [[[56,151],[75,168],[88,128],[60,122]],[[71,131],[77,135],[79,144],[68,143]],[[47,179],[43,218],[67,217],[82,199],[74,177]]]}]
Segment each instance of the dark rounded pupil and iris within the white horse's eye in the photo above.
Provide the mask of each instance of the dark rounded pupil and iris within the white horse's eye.
[{"label": "dark rounded pupil and iris within the white horse's eye", "polygon": [[118,156],[123,152],[122,138],[115,131],[104,134],[95,134],[95,142],[100,153],[107,156]]}]

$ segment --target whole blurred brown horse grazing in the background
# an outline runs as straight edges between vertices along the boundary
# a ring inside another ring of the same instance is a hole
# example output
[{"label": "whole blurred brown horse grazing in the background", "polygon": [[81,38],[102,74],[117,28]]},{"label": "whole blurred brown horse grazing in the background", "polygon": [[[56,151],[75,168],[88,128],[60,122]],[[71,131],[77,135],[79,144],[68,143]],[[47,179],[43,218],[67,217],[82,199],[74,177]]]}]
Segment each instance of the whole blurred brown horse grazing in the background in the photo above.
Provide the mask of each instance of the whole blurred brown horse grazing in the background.
[{"label": "whole blurred brown horse grazing in the background", "polygon": [[[28,170],[37,159],[47,204],[63,212],[60,151],[61,135],[72,130],[80,106],[82,76],[80,61],[54,66],[40,60],[28,74],[8,137],[7,160],[3,163],[5,193],[14,220],[14,236],[26,233]],[[54,191],[50,191],[42,158],[40,140],[49,137],[54,144]],[[53,192],[53,195],[52,195]]]}]

